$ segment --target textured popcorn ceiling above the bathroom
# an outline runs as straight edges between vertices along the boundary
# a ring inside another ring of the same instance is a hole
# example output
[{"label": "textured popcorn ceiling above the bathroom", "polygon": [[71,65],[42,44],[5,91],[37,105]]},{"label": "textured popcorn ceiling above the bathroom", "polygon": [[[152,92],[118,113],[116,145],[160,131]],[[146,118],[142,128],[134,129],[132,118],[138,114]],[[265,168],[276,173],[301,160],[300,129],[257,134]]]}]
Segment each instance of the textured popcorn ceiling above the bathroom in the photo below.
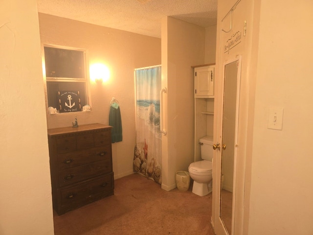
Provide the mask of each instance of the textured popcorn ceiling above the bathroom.
[{"label": "textured popcorn ceiling above the bathroom", "polygon": [[38,0],[38,11],[157,38],[165,16],[202,27],[217,22],[217,0]]}]

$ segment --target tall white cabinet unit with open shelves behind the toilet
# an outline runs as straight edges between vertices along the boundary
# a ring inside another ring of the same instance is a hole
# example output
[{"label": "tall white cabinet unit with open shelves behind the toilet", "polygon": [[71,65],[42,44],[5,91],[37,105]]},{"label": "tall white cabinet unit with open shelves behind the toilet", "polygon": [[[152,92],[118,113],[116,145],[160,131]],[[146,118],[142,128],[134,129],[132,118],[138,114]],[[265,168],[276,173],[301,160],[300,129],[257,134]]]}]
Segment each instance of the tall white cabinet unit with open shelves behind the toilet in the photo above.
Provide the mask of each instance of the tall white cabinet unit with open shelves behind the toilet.
[{"label": "tall white cabinet unit with open shelves behind the toilet", "polygon": [[[211,77],[212,74],[212,77]],[[213,136],[214,66],[194,67],[195,161],[201,160],[200,139]]]}]

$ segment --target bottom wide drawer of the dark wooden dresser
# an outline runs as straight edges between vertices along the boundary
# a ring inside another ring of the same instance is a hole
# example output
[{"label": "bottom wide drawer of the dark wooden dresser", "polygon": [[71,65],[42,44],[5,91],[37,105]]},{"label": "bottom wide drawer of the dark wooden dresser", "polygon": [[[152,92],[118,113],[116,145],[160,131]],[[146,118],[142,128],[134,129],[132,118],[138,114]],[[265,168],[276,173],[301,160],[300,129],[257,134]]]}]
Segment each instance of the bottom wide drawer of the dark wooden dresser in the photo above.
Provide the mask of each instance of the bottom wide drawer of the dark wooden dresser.
[{"label": "bottom wide drawer of the dark wooden dresser", "polygon": [[113,174],[92,180],[76,187],[61,190],[61,205],[79,204],[83,201],[94,201],[97,197],[105,197],[113,194]]}]

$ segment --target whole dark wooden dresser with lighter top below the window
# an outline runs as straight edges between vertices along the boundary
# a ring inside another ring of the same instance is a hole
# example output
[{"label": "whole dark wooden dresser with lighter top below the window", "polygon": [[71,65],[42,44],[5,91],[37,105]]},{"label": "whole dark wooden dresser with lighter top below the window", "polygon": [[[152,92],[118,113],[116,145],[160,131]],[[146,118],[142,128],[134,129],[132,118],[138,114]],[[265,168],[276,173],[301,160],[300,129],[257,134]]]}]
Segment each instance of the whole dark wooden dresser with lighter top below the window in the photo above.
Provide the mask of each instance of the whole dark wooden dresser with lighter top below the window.
[{"label": "whole dark wooden dresser with lighter top below the window", "polygon": [[58,214],[114,194],[111,126],[48,129],[53,209]]}]

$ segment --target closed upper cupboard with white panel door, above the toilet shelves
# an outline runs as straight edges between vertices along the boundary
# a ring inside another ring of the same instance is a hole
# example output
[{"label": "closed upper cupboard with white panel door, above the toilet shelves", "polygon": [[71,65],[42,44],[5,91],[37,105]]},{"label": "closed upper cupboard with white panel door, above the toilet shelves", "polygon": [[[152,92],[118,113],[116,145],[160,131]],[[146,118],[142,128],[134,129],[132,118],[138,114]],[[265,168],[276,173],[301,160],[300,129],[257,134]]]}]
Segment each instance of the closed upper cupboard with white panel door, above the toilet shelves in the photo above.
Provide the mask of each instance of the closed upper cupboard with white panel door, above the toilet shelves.
[{"label": "closed upper cupboard with white panel door, above the toilet shelves", "polygon": [[194,69],[195,98],[214,96],[214,66],[201,66]]}]

